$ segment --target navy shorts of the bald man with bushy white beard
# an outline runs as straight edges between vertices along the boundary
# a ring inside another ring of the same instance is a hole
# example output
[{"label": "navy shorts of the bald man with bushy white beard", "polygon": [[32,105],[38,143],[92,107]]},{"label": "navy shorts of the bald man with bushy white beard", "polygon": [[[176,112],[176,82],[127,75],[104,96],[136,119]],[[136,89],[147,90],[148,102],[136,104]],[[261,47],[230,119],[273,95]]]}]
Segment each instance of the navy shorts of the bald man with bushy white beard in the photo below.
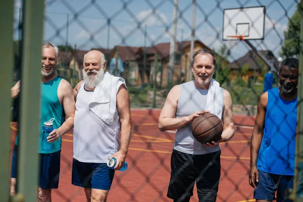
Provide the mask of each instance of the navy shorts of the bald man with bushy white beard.
[{"label": "navy shorts of the bald man with bushy white beard", "polygon": [[72,184],[84,188],[110,190],[115,170],[106,163],[83,163],[73,159]]}]

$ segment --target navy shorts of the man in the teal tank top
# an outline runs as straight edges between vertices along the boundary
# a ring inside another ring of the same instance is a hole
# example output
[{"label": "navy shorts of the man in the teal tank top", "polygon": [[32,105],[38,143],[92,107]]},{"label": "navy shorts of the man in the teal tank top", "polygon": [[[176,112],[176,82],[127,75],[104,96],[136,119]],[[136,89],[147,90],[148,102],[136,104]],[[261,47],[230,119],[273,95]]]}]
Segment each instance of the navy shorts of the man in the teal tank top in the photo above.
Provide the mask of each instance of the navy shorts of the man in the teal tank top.
[{"label": "navy shorts of the man in the teal tank top", "polygon": [[[52,154],[39,154],[39,186],[42,189],[58,189],[61,150]],[[11,178],[17,178],[18,146],[15,145],[12,158]]]}]

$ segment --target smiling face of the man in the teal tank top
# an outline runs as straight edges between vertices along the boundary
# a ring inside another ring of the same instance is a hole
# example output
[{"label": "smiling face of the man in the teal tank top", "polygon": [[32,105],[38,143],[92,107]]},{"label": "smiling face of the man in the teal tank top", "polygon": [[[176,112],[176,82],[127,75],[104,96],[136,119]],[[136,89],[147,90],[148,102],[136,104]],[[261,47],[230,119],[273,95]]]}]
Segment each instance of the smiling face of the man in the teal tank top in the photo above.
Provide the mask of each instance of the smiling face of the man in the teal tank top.
[{"label": "smiling face of the man in the teal tank top", "polygon": [[54,73],[57,65],[56,49],[52,46],[42,47],[42,76],[50,76]]}]

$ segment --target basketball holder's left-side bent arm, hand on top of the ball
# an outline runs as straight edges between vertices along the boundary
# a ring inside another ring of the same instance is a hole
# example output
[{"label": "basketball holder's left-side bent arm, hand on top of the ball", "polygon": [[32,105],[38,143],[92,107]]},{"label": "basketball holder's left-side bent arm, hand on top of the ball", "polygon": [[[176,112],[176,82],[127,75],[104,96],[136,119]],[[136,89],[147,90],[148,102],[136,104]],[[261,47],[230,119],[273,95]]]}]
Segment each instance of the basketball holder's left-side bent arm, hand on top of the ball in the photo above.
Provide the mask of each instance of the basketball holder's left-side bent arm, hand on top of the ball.
[{"label": "basketball holder's left-side bent arm, hand on top of the ball", "polygon": [[168,93],[158,121],[158,127],[161,131],[175,130],[177,128],[181,128],[186,124],[191,123],[192,120],[195,117],[198,117],[200,114],[209,112],[209,111],[198,111],[187,117],[176,118],[175,114],[177,111],[177,104],[180,94],[181,94],[180,85],[175,85]]}]

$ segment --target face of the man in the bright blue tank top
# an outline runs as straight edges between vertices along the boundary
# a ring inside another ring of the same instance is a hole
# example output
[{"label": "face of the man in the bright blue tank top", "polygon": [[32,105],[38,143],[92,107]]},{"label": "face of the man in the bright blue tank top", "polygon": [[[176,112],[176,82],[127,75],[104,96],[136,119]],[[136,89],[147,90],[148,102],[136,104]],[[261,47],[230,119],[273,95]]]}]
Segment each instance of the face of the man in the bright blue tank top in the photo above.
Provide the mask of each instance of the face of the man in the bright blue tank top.
[{"label": "face of the man in the bright blue tank top", "polygon": [[291,93],[298,84],[298,68],[289,68],[283,65],[279,73],[281,89],[284,93]]}]

